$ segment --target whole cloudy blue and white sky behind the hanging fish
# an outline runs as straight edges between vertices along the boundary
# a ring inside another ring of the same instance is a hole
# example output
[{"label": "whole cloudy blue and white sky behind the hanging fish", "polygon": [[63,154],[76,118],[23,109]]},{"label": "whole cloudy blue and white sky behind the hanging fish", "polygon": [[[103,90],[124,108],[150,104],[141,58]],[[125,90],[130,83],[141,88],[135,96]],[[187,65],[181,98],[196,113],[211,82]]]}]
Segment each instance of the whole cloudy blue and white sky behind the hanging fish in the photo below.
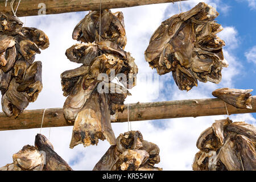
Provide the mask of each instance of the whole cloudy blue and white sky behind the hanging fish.
[{"label": "whole cloudy blue and white sky behind the hanging fish", "polygon": [[[182,10],[187,11],[201,1],[192,0],[181,2]],[[132,96],[127,97],[126,103],[185,100],[192,98],[210,98],[212,91],[217,88],[229,87],[238,89],[254,89],[255,95],[255,67],[256,67],[256,17],[255,0],[236,1],[204,1],[216,6],[220,16],[216,19],[224,30],[218,34],[226,46],[224,56],[229,68],[222,70],[222,81],[216,85],[211,82],[202,83],[189,92],[180,91],[171,73],[159,77],[159,84],[148,84],[143,78],[154,76],[152,70],[144,60],[144,50],[148,46],[151,35],[163,20],[179,13],[178,3],[164,3],[113,9],[122,11],[125,16],[127,46],[135,58],[139,73],[137,86],[130,90]],[[21,1],[22,3],[22,1]],[[214,4],[213,4],[214,3]],[[62,95],[60,74],[68,69],[79,67],[65,56],[65,50],[78,43],[72,39],[73,28],[88,12],[67,13],[59,15],[44,15],[20,18],[26,21],[26,26],[36,27],[49,37],[50,46],[43,50],[36,60],[43,63],[43,90],[38,100],[30,103],[27,109],[44,109],[62,107],[65,97]],[[132,122],[132,129],[141,131],[143,138],[158,144],[161,162],[156,164],[164,170],[192,170],[191,164],[198,151],[196,140],[200,133],[212,125],[215,119],[223,119],[226,115],[160,119],[156,121]],[[237,114],[230,116],[233,121],[256,123],[255,114]],[[127,131],[127,123],[113,123],[115,137]],[[35,135],[40,129],[0,131],[0,166],[12,163],[12,155],[24,145],[34,145]],[[49,129],[42,129],[42,134],[49,136]],[[92,170],[94,165],[109,148],[109,143],[100,141],[98,146],[84,148],[81,144],[73,149],[69,148],[72,127],[51,128],[50,141],[55,151],[66,160],[75,170]]]}]

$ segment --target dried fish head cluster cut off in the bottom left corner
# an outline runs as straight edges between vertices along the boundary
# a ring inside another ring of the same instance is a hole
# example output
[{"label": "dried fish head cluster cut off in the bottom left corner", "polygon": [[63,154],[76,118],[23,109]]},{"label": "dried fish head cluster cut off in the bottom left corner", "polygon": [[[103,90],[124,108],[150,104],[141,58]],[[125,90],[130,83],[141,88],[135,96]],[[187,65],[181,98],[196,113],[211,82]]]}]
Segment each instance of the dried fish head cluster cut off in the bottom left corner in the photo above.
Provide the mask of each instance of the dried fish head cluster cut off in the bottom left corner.
[{"label": "dried fish head cluster cut off in the bottom left corner", "polygon": [[0,168],[0,171],[71,171],[67,162],[53,150],[52,144],[44,135],[37,134],[35,147],[26,145],[13,155],[13,163]]}]

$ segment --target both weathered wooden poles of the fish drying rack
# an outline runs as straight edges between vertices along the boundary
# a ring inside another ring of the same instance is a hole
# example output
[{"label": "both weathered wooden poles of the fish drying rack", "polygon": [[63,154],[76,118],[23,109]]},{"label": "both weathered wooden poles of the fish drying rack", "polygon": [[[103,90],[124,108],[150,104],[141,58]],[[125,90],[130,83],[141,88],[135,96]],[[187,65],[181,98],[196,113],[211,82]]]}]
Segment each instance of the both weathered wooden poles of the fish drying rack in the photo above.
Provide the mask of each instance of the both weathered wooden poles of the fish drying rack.
[{"label": "both weathered wooden poles of the fish drying rack", "polygon": [[[40,3],[46,5],[46,14],[60,14],[76,11],[115,9],[122,7],[133,7],[141,5],[151,5],[157,3],[170,3],[186,0],[22,0],[20,2],[17,16],[34,16],[42,8]],[[10,0],[5,7],[5,0],[0,2],[0,11],[11,12]],[[14,9],[18,5],[18,0],[14,3]],[[253,96],[253,109],[238,109],[232,105],[226,104],[229,114],[255,113],[256,96]],[[0,113],[0,131],[33,129],[41,127],[44,109],[24,110],[18,118],[6,117]],[[151,119],[167,119],[181,117],[200,117],[207,115],[226,114],[224,101],[218,98],[194,99],[181,101],[150,102],[129,104],[129,120],[143,121]],[[127,122],[127,105],[123,113],[118,113],[118,119],[115,122]],[[47,109],[44,114],[43,127],[72,126],[73,123],[67,122],[62,108]]]}]

